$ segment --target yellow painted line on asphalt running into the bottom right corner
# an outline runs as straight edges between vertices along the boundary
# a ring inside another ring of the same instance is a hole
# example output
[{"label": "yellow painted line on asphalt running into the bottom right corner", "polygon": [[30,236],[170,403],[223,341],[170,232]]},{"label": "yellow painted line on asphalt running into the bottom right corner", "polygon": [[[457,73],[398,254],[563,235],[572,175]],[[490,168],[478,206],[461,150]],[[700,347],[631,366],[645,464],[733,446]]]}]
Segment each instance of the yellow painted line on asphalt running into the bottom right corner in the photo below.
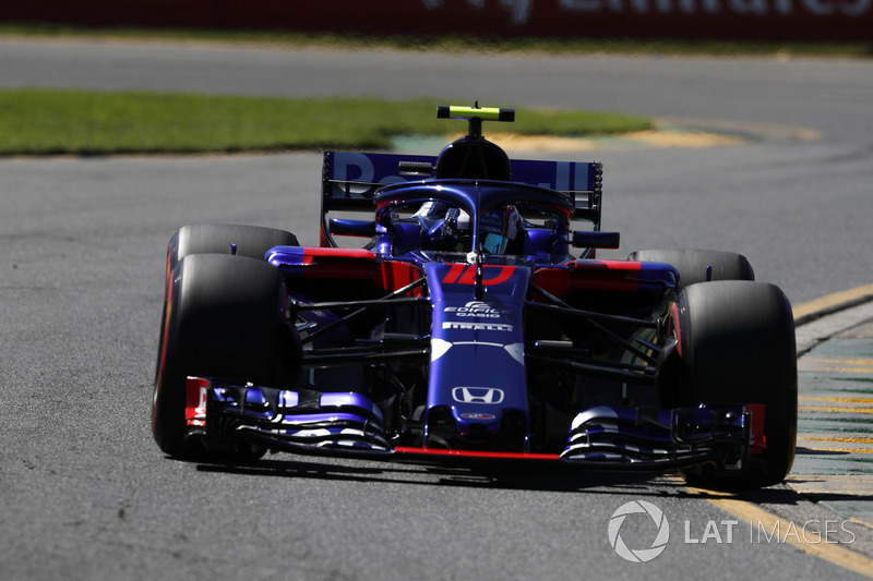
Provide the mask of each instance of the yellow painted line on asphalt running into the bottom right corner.
[{"label": "yellow painted line on asphalt running into the bottom right corner", "polygon": [[[711,491],[703,491],[701,488],[687,487],[692,493],[701,496],[711,497]],[[788,522],[785,519],[770,515],[766,510],[756,507],[745,500],[737,500],[734,498],[707,498],[709,504],[715,505],[725,512],[737,517],[741,522],[757,522],[765,530],[772,531],[778,526],[778,531],[797,530],[797,525]],[[865,557],[848,548],[844,548],[836,543],[809,543],[803,538],[803,535],[786,534],[785,544],[792,545],[799,548],[806,555],[818,557],[828,562],[842,567],[854,573],[873,579],[873,559]]]}]

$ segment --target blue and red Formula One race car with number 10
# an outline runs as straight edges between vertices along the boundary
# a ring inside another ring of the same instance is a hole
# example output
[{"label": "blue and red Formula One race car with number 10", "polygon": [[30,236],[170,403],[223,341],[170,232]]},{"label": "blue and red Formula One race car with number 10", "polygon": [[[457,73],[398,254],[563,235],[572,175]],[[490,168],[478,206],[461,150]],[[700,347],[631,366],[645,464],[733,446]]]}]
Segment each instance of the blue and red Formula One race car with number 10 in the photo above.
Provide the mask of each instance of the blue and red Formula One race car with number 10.
[{"label": "blue and red Formula One race car with number 10", "polygon": [[253,226],[172,237],[160,449],[781,482],[797,429],[784,293],[734,253],[598,259],[619,247],[599,164],[510,160],[482,121],[511,109],[438,116],[469,132],[435,158],[324,154],[318,247]]}]

